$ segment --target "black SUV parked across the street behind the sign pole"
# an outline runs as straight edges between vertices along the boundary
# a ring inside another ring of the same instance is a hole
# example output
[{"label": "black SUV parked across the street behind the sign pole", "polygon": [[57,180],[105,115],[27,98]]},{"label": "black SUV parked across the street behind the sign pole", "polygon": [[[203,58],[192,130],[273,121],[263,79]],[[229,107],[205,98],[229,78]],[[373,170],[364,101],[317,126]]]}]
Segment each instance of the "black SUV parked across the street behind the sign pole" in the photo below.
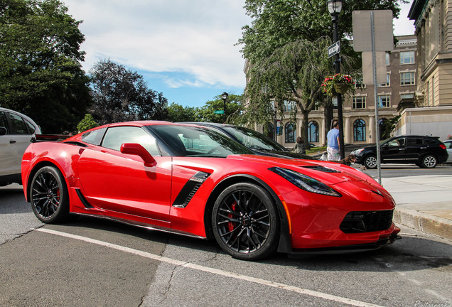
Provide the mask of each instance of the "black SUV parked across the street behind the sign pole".
[{"label": "black SUV parked across the street behind the sign pole", "polygon": [[[377,146],[356,149],[350,154],[356,156],[356,163],[367,168],[377,167]],[[394,136],[380,142],[381,163],[414,163],[422,168],[434,168],[446,162],[446,146],[438,136],[404,135]]]}]

